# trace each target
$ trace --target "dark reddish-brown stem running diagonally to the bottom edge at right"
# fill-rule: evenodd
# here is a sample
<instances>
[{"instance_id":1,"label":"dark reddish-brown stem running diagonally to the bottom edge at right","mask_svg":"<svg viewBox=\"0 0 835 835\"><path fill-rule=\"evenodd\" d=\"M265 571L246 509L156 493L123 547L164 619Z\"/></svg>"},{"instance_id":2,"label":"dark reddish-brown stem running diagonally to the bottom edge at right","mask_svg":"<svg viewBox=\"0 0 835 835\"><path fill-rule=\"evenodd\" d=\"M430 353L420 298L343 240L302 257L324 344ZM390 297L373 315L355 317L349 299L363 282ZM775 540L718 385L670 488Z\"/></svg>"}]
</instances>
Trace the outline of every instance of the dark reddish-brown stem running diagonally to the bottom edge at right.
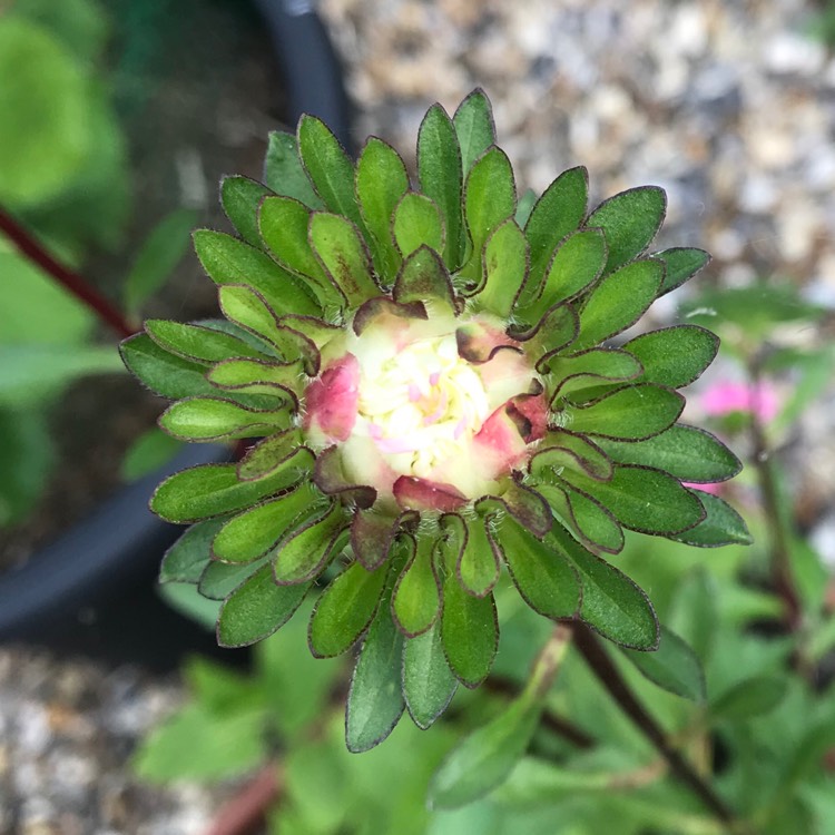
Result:
<instances>
[{"instance_id":1,"label":"dark reddish-brown stem running diagonally to the bottom edge at right","mask_svg":"<svg viewBox=\"0 0 835 835\"><path fill-rule=\"evenodd\" d=\"M725 802L714 792L696 769L669 744L667 735L655 718L638 701L620 671L612 662L600 641L583 623L573 625L574 645L591 671L618 703L620 709L635 723L669 765L670 773L688 786L694 794L728 828L738 832L739 822Z\"/></svg>"}]
</instances>

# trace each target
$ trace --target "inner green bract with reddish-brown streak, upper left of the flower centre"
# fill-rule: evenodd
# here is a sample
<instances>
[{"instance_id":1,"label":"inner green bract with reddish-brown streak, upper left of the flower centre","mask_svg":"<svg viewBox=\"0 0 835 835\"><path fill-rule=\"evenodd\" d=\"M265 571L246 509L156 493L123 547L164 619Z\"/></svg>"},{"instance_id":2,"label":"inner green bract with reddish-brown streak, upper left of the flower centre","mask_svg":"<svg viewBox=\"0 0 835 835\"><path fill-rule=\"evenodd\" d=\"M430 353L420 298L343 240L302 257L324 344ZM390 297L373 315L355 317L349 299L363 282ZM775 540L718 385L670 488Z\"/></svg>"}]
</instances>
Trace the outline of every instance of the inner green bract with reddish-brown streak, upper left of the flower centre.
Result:
<instances>
[{"instance_id":1,"label":"inner green bract with reddish-brown streak, upper left of the flower centre","mask_svg":"<svg viewBox=\"0 0 835 835\"><path fill-rule=\"evenodd\" d=\"M352 307L380 295L365 242L350 220L314 212L310 239L314 255Z\"/></svg>"}]
</instances>

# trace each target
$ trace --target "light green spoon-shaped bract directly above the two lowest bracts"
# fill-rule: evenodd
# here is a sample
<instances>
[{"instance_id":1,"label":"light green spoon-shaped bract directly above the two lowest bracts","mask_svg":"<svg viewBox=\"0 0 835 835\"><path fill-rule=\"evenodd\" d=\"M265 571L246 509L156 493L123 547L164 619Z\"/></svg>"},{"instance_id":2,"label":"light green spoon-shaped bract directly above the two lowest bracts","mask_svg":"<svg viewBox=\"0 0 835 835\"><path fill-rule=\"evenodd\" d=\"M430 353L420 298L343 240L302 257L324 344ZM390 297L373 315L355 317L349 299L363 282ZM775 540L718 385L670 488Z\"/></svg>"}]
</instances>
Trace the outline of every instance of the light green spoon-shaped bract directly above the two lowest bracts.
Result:
<instances>
[{"instance_id":1,"label":"light green spoon-shaped bract directly above the two lowest bracts","mask_svg":"<svg viewBox=\"0 0 835 835\"><path fill-rule=\"evenodd\" d=\"M441 587L433 563L435 540L419 537L412 556L397 578L392 592L392 617L406 638L425 632L438 619L441 609Z\"/></svg>"}]
</instances>

